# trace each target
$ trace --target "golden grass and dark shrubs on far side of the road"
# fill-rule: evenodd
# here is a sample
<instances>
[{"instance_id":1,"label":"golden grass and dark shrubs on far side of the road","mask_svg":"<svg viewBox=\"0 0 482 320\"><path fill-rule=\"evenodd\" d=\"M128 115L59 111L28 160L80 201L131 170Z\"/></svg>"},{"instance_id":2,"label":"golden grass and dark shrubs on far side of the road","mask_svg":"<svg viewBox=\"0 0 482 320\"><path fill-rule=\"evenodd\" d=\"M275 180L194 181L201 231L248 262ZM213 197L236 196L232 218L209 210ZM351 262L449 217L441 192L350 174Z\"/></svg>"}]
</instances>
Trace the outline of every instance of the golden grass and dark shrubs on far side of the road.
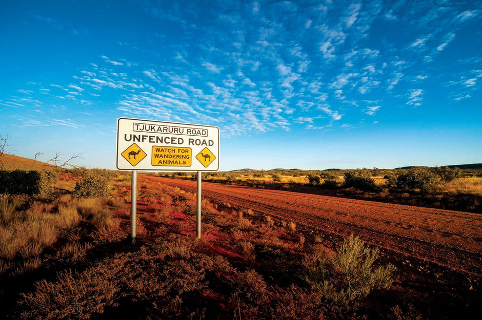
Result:
<instances>
[{"instance_id":1,"label":"golden grass and dark shrubs on far side of the road","mask_svg":"<svg viewBox=\"0 0 482 320\"><path fill-rule=\"evenodd\" d=\"M194 178L191 173L163 176ZM356 170L239 170L207 173L206 181L304 192L364 200L482 212L482 169L413 167L410 169Z\"/></svg>"}]
</instances>

